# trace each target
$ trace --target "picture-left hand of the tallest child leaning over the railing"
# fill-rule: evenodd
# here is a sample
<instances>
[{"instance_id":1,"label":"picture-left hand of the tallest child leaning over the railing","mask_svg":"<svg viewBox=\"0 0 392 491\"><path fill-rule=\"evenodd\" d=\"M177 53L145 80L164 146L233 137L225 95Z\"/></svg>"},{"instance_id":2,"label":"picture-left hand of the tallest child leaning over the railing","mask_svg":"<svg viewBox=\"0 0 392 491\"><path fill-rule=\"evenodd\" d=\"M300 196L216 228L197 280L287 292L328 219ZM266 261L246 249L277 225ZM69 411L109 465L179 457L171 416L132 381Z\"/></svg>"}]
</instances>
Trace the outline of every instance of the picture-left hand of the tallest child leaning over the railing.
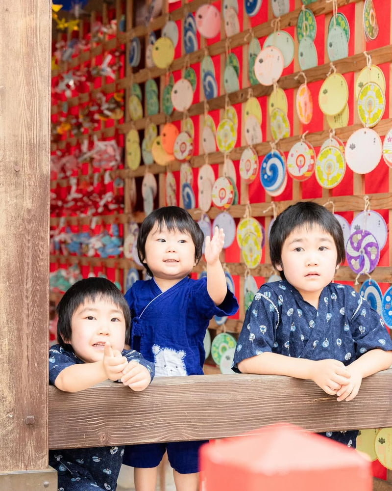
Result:
<instances>
[{"instance_id":1,"label":"picture-left hand of the tallest child leaning over the railing","mask_svg":"<svg viewBox=\"0 0 392 491\"><path fill-rule=\"evenodd\" d=\"M311 380L327 394L335 395L350 383L350 373L341 361L318 360L313 363ZM338 399L339 400L339 399Z\"/></svg>"}]
</instances>

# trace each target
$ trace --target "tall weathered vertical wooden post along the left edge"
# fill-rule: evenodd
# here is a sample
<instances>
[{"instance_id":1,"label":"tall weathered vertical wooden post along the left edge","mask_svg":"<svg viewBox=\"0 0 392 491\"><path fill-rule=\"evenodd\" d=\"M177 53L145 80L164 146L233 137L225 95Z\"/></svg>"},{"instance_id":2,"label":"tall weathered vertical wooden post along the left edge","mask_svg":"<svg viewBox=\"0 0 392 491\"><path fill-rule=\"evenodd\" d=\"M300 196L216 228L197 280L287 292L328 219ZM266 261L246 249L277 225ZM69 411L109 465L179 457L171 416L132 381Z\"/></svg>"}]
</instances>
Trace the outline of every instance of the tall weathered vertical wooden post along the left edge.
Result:
<instances>
[{"instance_id":1,"label":"tall weathered vertical wooden post along the left edge","mask_svg":"<svg viewBox=\"0 0 392 491\"><path fill-rule=\"evenodd\" d=\"M48 469L51 2L0 6L0 489Z\"/></svg>"}]
</instances>

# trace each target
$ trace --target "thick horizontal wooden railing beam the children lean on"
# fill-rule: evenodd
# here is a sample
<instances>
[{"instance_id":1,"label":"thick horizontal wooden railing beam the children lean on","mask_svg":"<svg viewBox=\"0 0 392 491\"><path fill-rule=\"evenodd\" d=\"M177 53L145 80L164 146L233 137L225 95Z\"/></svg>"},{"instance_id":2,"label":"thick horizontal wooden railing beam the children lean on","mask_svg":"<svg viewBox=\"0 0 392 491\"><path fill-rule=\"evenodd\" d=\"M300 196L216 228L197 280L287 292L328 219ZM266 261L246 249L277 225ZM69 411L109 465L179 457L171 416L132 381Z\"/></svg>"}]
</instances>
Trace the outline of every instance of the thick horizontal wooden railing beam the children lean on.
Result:
<instances>
[{"instance_id":1,"label":"thick horizontal wooden railing beam the children lean on","mask_svg":"<svg viewBox=\"0 0 392 491\"><path fill-rule=\"evenodd\" d=\"M392 426L392 369L338 403L314 382L282 376L161 377L143 392L105 382L79 393L49 387L49 448L243 435L286 421L312 431Z\"/></svg>"}]
</instances>

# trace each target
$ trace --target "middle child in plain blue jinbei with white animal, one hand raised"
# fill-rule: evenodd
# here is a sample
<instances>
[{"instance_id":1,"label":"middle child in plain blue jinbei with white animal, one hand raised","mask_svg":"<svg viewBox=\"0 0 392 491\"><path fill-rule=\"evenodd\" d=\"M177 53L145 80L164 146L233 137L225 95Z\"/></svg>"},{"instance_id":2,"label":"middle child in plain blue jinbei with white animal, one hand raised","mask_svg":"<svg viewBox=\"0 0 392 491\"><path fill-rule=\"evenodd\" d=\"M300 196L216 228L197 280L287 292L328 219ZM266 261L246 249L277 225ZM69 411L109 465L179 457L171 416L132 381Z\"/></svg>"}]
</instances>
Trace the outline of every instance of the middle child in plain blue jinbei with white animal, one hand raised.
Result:
<instances>
[{"instance_id":1,"label":"middle child in plain blue jinbei with white animal, one hand raised","mask_svg":"<svg viewBox=\"0 0 392 491\"><path fill-rule=\"evenodd\" d=\"M137 239L141 262L152 279L136 281L126 292L132 315L131 348L155 363L156 376L201 375L203 340L214 315L233 315L237 300L227 289L219 259L223 230L206 237L207 278L189 277L202 255L204 235L184 209L167 206L143 221ZM182 441L125 447L123 463L134 467L136 491L154 491L165 451L177 491L196 491L198 449Z\"/></svg>"}]
</instances>

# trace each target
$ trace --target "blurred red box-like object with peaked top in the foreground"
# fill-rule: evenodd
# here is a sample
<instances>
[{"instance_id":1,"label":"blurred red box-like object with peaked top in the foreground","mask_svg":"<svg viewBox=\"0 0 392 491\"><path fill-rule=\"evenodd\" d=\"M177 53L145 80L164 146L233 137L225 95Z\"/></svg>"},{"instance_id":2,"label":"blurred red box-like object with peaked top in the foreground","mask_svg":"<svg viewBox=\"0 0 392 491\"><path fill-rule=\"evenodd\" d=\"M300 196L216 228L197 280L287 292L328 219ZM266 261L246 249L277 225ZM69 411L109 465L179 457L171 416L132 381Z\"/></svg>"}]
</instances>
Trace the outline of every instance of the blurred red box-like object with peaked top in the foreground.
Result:
<instances>
[{"instance_id":1,"label":"blurred red box-like object with peaked top in the foreground","mask_svg":"<svg viewBox=\"0 0 392 491\"><path fill-rule=\"evenodd\" d=\"M200 448L203 491L371 491L371 463L354 449L289 424Z\"/></svg>"}]
</instances>

